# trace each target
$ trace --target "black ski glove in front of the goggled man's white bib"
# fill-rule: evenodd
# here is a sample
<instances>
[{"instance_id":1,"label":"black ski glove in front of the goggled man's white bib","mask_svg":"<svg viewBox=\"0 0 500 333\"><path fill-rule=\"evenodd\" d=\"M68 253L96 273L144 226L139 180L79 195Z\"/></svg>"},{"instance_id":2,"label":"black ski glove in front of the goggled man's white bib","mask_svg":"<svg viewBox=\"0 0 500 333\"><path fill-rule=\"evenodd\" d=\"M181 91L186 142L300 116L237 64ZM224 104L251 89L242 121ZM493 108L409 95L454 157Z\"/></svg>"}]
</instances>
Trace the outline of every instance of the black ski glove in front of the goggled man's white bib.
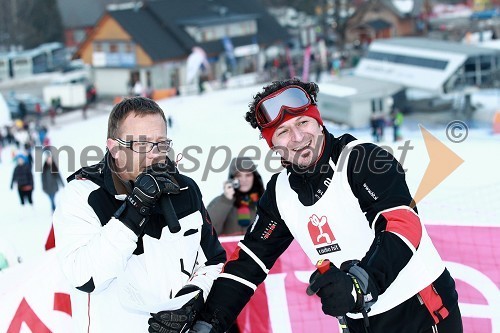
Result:
<instances>
[{"instance_id":1,"label":"black ski glove in front of the goggled man's white bib","mask_svg":"<svg viewBox=\"0 0 500 333\"><path fill-rule=\"evenodd\" d=\"M369 289L369 276L357 266L357 261L342 264L342 269L330 264L323 274L314 271L309 279L309 289L321 298L323 312L330 316L344 316L346 313L368 311L377 300L378 293Z\"/></svg>"}]
</instances>

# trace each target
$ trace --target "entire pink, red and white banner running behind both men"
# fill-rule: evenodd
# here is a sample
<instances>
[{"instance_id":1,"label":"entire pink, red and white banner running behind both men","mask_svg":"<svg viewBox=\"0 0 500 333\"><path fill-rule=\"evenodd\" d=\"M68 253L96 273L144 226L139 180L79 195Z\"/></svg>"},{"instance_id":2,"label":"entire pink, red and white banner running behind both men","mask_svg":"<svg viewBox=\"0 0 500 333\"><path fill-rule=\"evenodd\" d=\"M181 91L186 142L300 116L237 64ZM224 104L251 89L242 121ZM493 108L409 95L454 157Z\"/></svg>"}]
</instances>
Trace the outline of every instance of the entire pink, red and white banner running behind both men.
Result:
<instances>
[{"instance_id":1,"label":"entire pink, red and white banner running behind both men","mask_svg":"<svg viewBox=\"0 0 500 333\"><path fill-rule=\"evenodd\" d=\"M500 333L500 228L427 226L457 282L466 333ZM237 239L221 237L228 252ZM339 332L305 293L313 267L294 242L238 318L244 333ZM0 332L71 332L69 286L54 251L0 274Z\"/></svg>"}]
</instances>

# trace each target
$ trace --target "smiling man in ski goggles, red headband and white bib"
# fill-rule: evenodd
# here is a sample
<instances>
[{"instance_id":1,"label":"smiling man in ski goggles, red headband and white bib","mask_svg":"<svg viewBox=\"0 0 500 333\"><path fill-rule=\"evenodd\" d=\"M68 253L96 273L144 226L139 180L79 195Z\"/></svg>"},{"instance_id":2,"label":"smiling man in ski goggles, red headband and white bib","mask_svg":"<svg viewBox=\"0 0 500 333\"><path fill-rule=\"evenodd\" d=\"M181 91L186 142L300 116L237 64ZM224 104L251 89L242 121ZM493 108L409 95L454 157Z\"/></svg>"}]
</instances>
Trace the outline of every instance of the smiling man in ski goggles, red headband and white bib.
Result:
<instances>
[{"instance_id":1,"label":"smiling man in ski goggles, red headband and white bib","mask_svg":"<svg viewBox=\"0 0 500 333\"><path fill-rule=\"evenodd\" d=\"M285 168L269 181L191 332L224 332L294 239L317 267L304 291L343 333L462 332L455 282L402 166L375 144L330 134L318 91L313 82L277 81L250 104L245 119Z\"/></svg>"}]
</instances>

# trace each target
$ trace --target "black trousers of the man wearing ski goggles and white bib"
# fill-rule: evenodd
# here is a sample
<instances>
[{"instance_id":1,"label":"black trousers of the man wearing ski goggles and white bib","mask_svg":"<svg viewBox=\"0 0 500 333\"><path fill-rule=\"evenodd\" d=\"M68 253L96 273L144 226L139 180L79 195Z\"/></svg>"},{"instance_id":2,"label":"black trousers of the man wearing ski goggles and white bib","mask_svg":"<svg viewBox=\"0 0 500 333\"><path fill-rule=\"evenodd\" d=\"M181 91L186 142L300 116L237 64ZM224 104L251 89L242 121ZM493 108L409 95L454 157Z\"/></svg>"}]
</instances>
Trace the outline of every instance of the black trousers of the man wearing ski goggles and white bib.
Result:
<instances>
[{"instance_id":1,"label":"black trousers of the man wearing ski goggles and white bib","mask_svg":"<svg viewBox=\"0 0 500 333\"><path fill-rule=\"evenodd\" d=\"M458 304L449 312L448 317L437 324L436 330L429 311L414 296L389 311L369 317L368 331L363 319L346 319L350 333L463 333Z\"/></svg>"}]
</instances>

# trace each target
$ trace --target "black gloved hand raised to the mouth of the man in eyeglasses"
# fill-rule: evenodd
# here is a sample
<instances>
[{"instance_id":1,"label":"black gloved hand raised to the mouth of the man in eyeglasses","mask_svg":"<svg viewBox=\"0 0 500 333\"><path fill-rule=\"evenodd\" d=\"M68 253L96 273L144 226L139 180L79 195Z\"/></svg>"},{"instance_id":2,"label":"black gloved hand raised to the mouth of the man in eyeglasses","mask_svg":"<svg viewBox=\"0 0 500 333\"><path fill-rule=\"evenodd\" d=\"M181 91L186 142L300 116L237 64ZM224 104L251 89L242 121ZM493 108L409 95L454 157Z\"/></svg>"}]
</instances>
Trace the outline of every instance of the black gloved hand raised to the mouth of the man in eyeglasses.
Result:
<instances>
[{"instance_id":1,"label":"black gloved hand raised to the mouth of the man in eyeglasses","mask_svg":"<svg viewBox=\"0 0 500 333\"><path fill-rule=\"evenodd\" d=\"M168 174L155 174L148 168L137 176L132 193L127 195L114 217L139 236L161 195L176 193L178 189Z\"/></svg>"}]
</instances>

